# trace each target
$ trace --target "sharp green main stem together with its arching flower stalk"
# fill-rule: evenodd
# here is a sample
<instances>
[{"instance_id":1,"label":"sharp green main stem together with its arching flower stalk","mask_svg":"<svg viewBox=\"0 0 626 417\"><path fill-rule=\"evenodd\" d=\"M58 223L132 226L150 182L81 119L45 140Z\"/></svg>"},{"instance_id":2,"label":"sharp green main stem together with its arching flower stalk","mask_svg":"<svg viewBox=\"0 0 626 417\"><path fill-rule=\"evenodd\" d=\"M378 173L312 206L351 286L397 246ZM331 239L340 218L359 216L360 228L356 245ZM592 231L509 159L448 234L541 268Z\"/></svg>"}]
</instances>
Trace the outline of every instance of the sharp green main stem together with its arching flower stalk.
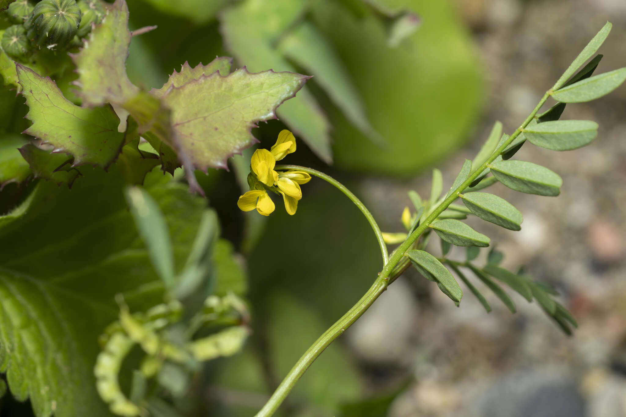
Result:
<instances>
[{"instance_id":1,"label":"sharp green main stem together with its arching flower stalk","mask_svg":"<svg viewBox=\"0 0 626 417\"><path fill-rule=\"evenodd\" d=\"M331 326L331 328L325 331L324 334L322 334L322 336L320 336L320 338L317 339L315 343L310 346L309 349L307 349L302 357L298 359L297 363L295 363L294 367L291 368L287 376L285 376L285 379L283 379L276 391L274 391L274 394L272 394L269 401L265 403L263 408L260 409L259 413L257 413L255 417L269 417L274 414L274 412L279 408L280 404L289 394L289 391L294 388L295 383L297 383L298 379L300 379L302 374L304 374L304 372L309 368L313 361L317 359L317 357L324 351L324 349L329 346L329 344L332 343L332 341L334 341L334 339L344 333L344 331L349 328L352 323L354 323L359 317L361 317L363 313L365 313L369 306L371 306L372 303L374 303L374 301L376 301L376 299L387 289L387 285L389 285L390 281L393 281L393 279L397 278L399 276L399 273L401 273L401 271L404 271L404 269L408 267L409 262L406 259L403 259L406 251L408 251L413 243L419 238L419 236L421 236L421 234L424 233L426 229L428 229L428 226L433 223L434 219L436 219L439 214L441 214L446 208L448 208L448 206L456 198L458 198L459 194L462 193L464 189L468 188L469 184L471 184L476 178L478 178L478 176L487 167L487 164L493 162L493 160L496 159L498 155L500 155L506 149L506 147L513 141L513 139L515 139L522 132L526 125L530 123L530 121L535 117L535 114L539 111L541 106L543 106L543 103L546 102L550 91L551 90L548 90L544 94L539 104L537 104L535 109L533 109L533 111L530 113L528 118L526 118L524 123L522 123L521 126L517 128L516 131L513 132L513 134L511 134L510 138L508 138L505 143L501 144L500 147L498 147L498 149L496 149L493 154L491 154L490 158L485 161L485 163L476 168L476 170L469 175L469 178L466 179L463 184L458 186L458 188L456 188L453 193L451 193L446 199L444 199L444 201L441 202L439 206L437 206L437 208L434 209L433 212L429 214L429 216L421 224L419 224L418 228L416 228L415 231L413 231L413 233L408 236L406 241L404 241L404 243L402 243L398 247L398 249L396 249L394 253L391 254L391 258L389 258L389 261L386 262L384 268L382 268L381 273L378 274L378 277L376 278L374 284L371 286L371 288L367 290L367 293L365 293L365 295L359 300L358 303L354 304L354 306L352 306L352 308L346 314L344 314L341 319L337 320L336 323ZM379 243L381 244L382 251L382 247L384 247L384 241L382 240L382 235L380 233L380 229L376 224L376 221L374 221L371 213L369 213L365 206L363 206L361 201L359 201L359 199L357 199L356 196L354 196L354 194L352 194L346 187L342 186L342 184L338 183L326 174L316 171L314 169L304 168L297 165L280 165L276 166L274 169L298 169L299 171L304 171L305 173L309 173L311 175L315 175L319 178L325 179L329 183L341 189L341 191L346 194L348 198L354 201L359 209L361 209L363 214L366 215L369 223L372 224L372 228L374 228L374 232L376 232L376 236L377 238L379 238ZM386 255L386 247L383 253ZM383 258L386 259L387 256L383 256ZM399 263L401 264L398 265ZM396 268L396 266L398 266L398 268Z\"/></svg>"}]
</instances>

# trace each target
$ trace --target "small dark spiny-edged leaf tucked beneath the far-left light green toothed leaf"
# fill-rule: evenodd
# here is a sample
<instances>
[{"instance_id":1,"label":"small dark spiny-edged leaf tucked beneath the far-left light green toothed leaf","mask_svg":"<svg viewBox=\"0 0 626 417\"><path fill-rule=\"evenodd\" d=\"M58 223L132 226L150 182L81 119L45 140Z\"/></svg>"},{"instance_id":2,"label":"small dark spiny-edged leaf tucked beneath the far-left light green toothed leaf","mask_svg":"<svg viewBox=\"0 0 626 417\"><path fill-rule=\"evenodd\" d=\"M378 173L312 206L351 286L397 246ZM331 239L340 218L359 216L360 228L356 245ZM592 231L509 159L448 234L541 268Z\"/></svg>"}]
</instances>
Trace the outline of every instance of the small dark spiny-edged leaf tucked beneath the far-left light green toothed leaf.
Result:
<instances>
[{"instance_id":1,"label":"small dark spiny-edged leaf tucked beneath the far-left light green toothed leaf","mask_svg":"<svg viewBox=\"0 0 626 417\"><path fill-rule=\"evenodd\" d=\"M31 167L34 178L53 181L57 185L68 184L71 188L76 178L81 175L78 169L72 168L73 158L67 154L50 153L32 143L19 148L19 153Z\"/></svg>"}]
</instances>

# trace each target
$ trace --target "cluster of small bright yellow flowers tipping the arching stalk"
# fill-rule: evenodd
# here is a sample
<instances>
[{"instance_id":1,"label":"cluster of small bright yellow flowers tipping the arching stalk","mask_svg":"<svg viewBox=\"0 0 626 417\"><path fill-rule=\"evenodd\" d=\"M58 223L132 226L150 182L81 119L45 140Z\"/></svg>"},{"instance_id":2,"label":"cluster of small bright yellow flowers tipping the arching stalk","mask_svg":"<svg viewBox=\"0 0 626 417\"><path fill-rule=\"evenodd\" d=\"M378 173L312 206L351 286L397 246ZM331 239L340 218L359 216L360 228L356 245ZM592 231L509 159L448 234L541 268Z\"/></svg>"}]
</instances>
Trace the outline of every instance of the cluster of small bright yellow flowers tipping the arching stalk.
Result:
<instances>
[{"instance_id":1,"label":"cluster of small bright yellow flowers tipping the arching stalk","mask_svg":"<svg viewBox=\"0 0 626 417\"><path fill-rule=\"evenodd\" d=\"M311 179L304 171L274 171L276 161L285 158L287 154L295 152L294 134L288 130L279 133L274 146L267 149L257 149L250 159L250 174L248 185L250 191L239 197L237 206L243 211L257 209L260 214L269 216L274 211L274 201L267 191L281 194L285 209L289 214L295 214L298 200L302 198L300 184L308 183Z\"/></svg>"}]
</instances>

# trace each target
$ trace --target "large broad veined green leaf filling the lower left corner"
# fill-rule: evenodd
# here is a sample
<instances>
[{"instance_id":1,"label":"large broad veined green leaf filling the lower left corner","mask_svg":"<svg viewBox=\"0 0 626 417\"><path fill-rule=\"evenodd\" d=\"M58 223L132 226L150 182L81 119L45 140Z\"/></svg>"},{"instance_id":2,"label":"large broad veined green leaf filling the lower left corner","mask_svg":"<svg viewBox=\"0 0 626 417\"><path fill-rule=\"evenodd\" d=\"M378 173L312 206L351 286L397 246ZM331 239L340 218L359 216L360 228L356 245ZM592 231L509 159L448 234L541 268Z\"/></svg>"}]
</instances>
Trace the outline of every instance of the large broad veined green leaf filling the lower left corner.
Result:
<instances>
[{"instance_id":1,"label":"large broad veined green leaf filling the lower left corner","mask_svg":"<svg viewBox=\"0 0 626 417\"><path fill-rule=\"evenodd\" d=\"M115 294L133 310L162 302L116 166L83 174L71 191L41 181L34 199L45 204L29 205L13 223L0 217L0 349L8 357L1 369L11 393L29 398L38 417L110 417L93 366L96 339L119 311ZM164 184L160 173L150 184L180 267L205 201L182 184Z\"/></svg>"}]
</instances>

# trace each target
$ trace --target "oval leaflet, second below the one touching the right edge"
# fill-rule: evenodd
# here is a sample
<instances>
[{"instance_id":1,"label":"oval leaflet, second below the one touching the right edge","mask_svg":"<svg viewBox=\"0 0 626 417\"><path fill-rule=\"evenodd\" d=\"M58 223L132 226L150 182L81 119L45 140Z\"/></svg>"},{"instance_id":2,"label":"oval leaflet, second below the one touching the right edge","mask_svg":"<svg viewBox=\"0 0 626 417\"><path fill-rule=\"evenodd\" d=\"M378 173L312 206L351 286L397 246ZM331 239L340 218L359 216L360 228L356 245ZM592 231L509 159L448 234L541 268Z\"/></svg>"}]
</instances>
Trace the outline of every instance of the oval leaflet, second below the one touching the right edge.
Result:
<instances>
[{"instance_id":1,"label":"oval leaflet, second below the one touching the right edge","mask_svg":"<svg viewBox=\"0 0 626 417\"><path fill-rule=\"evenodd\" d=\"M501 161L490 168L498 181L520 193L558 196L563 184L557 173L526 161Z\"/></svg>"}]
</instances>

